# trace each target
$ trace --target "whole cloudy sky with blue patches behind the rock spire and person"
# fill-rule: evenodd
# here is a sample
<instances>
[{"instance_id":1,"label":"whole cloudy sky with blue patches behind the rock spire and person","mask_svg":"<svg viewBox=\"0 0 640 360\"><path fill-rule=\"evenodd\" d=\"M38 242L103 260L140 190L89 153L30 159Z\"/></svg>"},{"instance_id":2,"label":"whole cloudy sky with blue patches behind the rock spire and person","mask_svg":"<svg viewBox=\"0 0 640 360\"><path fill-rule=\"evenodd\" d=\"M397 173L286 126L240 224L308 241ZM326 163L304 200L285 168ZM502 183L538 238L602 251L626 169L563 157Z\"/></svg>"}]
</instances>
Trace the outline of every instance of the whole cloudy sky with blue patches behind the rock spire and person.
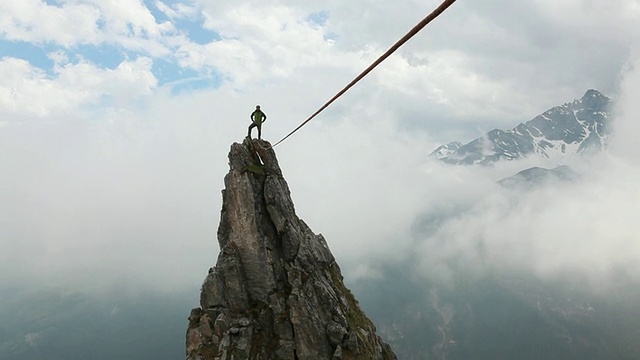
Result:
<instances>
[{"instance_id":1,"label":"whole cloudy sky with blue patches behind the rock spire and person","mask_svg":"<svg viewBox=\"0 0 640 360\"><path fill-rule=\"evenodd\" d=\"M0 282L197 291L255 105L279 140L438 5L0 0ZM276 148L298 215L348 279L415 253L444 281L451 259L639 279L639 20L638 0L457 1ZM588 89L618 117L609 151L567 159L578 185L514 200L496 180L557 164L427 157Z\"/></svg>"}]
</instances>

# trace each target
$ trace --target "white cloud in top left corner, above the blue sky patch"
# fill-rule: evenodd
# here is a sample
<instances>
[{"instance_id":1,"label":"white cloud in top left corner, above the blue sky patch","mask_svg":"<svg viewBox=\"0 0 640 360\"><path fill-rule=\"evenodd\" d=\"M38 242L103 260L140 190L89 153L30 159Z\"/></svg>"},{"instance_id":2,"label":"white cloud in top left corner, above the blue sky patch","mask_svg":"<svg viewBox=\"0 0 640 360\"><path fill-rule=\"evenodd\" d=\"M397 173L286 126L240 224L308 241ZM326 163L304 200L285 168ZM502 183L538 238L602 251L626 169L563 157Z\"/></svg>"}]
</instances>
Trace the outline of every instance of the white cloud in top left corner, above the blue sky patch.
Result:
<instances>
[{"instance_id":1,"label":"white cloud in top left corner, above the blue sky patch","mask_svg":"<svg viewBox=\"0 0 640 360\"><path fill-rule=\"evenodd\" d=\"M39 0L0 3L0 28L7 40L53 43L65 48L110 44L151 56L167 56L175 27L158 24L140 0L74 0L60 6Z\"/></svg>"}]
</instances>

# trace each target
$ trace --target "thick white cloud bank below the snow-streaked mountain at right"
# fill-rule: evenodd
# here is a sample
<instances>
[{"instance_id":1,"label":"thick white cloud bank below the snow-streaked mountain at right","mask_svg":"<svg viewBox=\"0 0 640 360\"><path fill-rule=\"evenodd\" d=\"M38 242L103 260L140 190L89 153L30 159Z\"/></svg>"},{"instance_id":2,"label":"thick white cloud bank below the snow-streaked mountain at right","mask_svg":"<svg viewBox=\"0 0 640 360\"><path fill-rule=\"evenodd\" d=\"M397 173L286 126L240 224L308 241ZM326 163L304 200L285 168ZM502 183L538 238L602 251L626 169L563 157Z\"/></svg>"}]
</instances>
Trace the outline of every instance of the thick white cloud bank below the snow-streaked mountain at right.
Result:
<instances>
[{"instance_id":1,"label":"thick white cloud bank below the snow-streaked mountain at right","mask_svg":"<svg viewBox=\"0 0 640 360\"><path fill-rule=\"evenodd\" d=\"M578 183L554 183L518 194L483 193L468 210L420 239L425 276L460 269L531 271L547 279L577 278L594 289L640 281L640 172L615 159L583 168ZM441 278L442 279L442 278Z\"/></svg>"}]
</instances>

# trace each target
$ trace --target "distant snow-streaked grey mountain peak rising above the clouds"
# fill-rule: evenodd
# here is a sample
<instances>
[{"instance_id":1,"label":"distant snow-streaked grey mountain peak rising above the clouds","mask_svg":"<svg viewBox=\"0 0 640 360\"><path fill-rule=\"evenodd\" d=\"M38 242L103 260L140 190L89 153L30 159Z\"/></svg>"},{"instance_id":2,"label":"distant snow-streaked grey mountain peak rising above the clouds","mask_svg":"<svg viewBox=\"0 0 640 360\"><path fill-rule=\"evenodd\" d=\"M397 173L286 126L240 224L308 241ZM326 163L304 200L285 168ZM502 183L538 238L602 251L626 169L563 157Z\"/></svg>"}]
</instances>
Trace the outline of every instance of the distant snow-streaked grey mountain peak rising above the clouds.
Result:
<instances>
[{"instance_id":1,"label":"distant snow-streaked grey mountain peak rising above the clouds","mask_svg":"<svg viewBox=\"0 0 640 360\"><path fill-rule=\"evenodd\" d=\"M537 154L566 158L601 151L610 133L611 99L588 90L579 100L556 106L510 130L494 129L468 144L451 142L434 156L451 164L491 164Z\"/></svg>"}]
</instances>

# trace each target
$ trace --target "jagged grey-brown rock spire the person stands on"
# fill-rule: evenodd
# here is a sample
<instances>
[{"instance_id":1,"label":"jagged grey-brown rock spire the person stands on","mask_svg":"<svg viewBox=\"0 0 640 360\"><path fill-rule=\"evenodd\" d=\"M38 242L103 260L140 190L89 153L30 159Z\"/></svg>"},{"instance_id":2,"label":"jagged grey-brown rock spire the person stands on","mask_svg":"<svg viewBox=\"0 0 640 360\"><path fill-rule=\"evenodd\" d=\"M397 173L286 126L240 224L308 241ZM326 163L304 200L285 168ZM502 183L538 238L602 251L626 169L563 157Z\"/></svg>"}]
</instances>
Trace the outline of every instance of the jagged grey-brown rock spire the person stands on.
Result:
<instances>
[{"instance_id":1,"label":"jagged grey-brown rock spire the person stands on","mask_svg":"<svg viewBox=\"0 0 640 360\"><path fill-rule=\"evenodd\" d=\"M220 254L189 316L187 359L395 359L325 239L296 216L267 148L231 146Z\"/></svg>"}]
</instances>

